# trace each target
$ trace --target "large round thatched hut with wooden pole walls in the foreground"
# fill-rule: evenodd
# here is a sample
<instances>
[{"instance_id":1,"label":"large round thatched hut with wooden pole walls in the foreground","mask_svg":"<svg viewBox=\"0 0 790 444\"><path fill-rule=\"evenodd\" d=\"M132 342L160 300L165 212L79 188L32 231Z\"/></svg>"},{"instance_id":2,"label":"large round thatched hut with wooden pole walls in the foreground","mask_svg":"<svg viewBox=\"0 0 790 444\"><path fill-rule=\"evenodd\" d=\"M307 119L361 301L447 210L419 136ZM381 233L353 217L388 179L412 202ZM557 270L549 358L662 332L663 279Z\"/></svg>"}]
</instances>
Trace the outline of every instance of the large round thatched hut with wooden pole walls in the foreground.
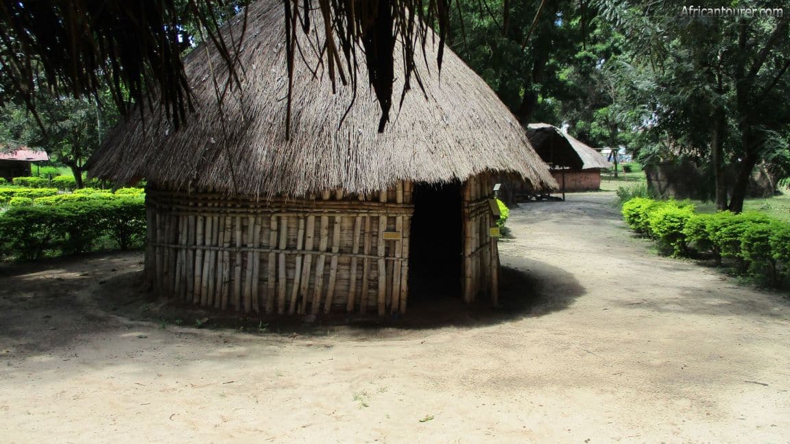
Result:
<instances>
[{"instance_id":1,"label":"large round thatched hut with wooden pole walls in the foreground","mask_svg":"<svg viewBox=\"0 0 790 444\"><path fill-rule=\"evenodd\" d=\"M423 283L414 275L429 269L446 275L437 288L459 286L468 302L495 297L491 173L556 183L491 88L450 51L440 76L428 43L427 97L412 89L379 134L373 92L333 94L314 42L297 57L287 138L282 4L249 8L238 83L211 47L196 48L186 58L196 112L185 127L146 111L90 163L102 179L148 181L156 288L237 310L384 314L404 311L409 285ZM233 19L224 33L238 40L242 26ZM367 76L364 66L356 75Z\"/></svg>"}]
</instances>

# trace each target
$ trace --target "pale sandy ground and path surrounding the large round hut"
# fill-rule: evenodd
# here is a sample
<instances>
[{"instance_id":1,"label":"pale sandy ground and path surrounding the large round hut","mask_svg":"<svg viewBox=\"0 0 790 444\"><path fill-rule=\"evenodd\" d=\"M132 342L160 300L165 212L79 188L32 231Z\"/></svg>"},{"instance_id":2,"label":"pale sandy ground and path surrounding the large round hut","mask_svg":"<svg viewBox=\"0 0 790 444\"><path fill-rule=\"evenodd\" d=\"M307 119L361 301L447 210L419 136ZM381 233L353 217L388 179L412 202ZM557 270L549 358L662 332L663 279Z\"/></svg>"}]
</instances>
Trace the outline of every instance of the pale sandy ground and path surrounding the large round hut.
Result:
<instances>
[{"instance_id":1,"label":"pale sandy ground and path surrounding the large round hut","mask_svg":"<svg viewBox=\"0 0 790 444\"><path fill-rule=\"evenodd\" d=\"M611 200L513 209L505 308L434 324L195 329L133 320L140 254L6 266L0 441L788 442L788 299Z\"/></svg>"}]
</instances>

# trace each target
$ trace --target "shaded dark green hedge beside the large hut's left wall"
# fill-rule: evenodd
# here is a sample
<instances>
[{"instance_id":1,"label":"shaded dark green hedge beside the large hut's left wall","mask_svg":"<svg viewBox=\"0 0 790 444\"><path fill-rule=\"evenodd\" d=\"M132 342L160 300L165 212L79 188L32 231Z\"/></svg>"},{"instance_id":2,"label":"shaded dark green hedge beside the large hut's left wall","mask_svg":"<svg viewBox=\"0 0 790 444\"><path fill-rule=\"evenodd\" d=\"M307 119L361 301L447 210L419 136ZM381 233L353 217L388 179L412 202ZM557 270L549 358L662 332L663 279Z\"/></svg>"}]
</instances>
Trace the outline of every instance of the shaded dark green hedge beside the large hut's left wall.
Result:
<instances>
[{"instance_id":1,"label":"shaded dark green hedge beside the large hut's left wall","mask_svg":"<svg viewBox=\"0 0 790 444\"><path fill-rule=\"evenodd\" d=\"M145 200L121 197L21 206L0 215L0 252L17 259L81 253L103 238L122 250L141 245Z\"/></svg>"}]
</instances>

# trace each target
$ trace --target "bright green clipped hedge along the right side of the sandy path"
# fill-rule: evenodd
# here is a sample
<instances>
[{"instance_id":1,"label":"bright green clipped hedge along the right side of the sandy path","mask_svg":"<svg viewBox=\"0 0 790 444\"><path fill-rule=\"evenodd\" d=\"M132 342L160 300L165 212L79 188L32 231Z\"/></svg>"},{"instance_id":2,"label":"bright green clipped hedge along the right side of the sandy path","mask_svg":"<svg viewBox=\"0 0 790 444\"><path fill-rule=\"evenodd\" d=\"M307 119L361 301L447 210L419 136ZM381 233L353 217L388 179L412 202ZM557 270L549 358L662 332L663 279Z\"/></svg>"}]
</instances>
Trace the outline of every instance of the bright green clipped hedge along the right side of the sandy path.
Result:
<instances>
[{"instance_id":1,"label":"bright green clipped hedge along the right side of the sandy path","mask_svg":"<svg viewBox=\"0 0 790 444\"><path fill-rule=\"evenodd\" d=\"M626 224L674 256L711 254L739 273L779 286L790 276L790 224L762 213L694 213L676 201L633 198L623 204Z\"/></svg>"}]
</instances>

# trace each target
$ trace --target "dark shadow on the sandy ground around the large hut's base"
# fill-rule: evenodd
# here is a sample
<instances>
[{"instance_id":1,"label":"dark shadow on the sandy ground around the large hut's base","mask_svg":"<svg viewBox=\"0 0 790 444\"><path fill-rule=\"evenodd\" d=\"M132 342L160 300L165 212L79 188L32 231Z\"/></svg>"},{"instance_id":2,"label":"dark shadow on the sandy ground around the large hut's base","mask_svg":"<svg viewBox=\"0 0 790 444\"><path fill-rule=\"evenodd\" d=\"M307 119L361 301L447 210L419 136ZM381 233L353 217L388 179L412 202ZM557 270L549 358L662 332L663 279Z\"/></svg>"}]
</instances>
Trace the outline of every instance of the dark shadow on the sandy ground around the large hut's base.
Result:
<instances>
[{"instance_id":1,"label":"dark shadow on the sandy ground around the large hut's base","mask_svg":"<svg viewBox=\"0 0 790 444\"><path fill-rule=\"evenodd\" d=\"M406 315L320 314L307 322L305 316L236 314L156 299L145 289L139 259L139 254L94 254L4 267L0 343L6 351L0 352L45 352L68 346L80 335L134 321L307 336L333 329L352 337L381 337L386 332L397 335L399 330L469 328L541 316L568 307L585 293L565 270L508 257L511 266L503 266L500 275L499 307L492 307L482 295L471 306L460 298L413 295Z\"/></svg>"}]
</instances>

